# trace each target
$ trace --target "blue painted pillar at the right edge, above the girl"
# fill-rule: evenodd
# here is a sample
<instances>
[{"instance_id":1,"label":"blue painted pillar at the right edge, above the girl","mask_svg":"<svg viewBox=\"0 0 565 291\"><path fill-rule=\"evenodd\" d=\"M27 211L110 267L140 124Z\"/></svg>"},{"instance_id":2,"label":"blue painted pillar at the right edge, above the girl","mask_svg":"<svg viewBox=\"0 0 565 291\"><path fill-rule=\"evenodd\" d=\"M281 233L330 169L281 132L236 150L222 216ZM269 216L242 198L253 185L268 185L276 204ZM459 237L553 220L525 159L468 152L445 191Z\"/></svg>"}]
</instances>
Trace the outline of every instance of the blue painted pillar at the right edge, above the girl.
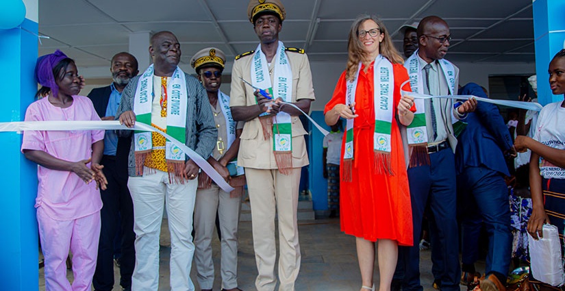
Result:
<instances>
[{"instance_id":1,"label":"blue painted pillar at the right edge, above the girl","mask_svg":"<svg viewBox=\"0 0 565 291\"><path fill-rule=\"evenodd\" d=\"M542 105L563 100L551 94L547 69L553 55L565 46L565 1L533 0L533 38L536 40L538 100Z\"/></svg>"}]
</instances>

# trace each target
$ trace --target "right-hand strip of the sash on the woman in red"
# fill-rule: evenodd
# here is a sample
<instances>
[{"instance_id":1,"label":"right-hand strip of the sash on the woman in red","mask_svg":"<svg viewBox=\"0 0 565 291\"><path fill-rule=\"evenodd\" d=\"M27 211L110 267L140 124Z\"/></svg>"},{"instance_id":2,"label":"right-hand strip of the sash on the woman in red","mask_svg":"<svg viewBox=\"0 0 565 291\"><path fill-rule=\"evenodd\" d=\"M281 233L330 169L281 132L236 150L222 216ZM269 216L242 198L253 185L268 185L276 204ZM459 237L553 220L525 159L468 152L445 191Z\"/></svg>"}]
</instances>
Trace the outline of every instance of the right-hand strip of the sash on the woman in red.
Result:
<instances>
[{"instance_id":1,"label":"right-hand strip of the sash on the woman in red","mask_svg":"<svg viewBox=\"0 0 565 291\"><path fill-rule=\"evenodd\" d=\"M379 55L375 59L373 74L375 84L375 134L373 134L373 149L390 153L390 131L394 116L394 73L392 63Z\"/></svg>"}]
</instances>

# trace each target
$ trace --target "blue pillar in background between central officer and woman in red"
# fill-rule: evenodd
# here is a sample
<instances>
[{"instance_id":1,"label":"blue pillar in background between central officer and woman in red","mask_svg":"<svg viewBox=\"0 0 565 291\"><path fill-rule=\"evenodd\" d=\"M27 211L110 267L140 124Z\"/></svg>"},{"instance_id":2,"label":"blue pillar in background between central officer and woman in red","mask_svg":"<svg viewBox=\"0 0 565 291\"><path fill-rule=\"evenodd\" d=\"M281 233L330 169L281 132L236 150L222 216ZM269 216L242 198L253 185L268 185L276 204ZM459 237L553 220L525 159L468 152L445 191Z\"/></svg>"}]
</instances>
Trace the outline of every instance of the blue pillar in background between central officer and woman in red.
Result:
<instances>
[{"instance_id":1,"label":"blue pillar in background between central officer and woman in red","mask_svg":"<svg viewBox=\"0 0 565 291\"><path fill-rule=\"evenodd\" d=\"M319 125L322 125L329 131L329 127L325 125L324 112L313 111L310 117ZM308 185L312 193L312 203L314 204L314 212L321 214L327 210L327 179L323 176L323 161L322 161L322 142L324 135L321 134L311 123L310 126L310 142L308 142L308 155L310 158L310 165L308 166Z\"/></svg>"}]
</instances>

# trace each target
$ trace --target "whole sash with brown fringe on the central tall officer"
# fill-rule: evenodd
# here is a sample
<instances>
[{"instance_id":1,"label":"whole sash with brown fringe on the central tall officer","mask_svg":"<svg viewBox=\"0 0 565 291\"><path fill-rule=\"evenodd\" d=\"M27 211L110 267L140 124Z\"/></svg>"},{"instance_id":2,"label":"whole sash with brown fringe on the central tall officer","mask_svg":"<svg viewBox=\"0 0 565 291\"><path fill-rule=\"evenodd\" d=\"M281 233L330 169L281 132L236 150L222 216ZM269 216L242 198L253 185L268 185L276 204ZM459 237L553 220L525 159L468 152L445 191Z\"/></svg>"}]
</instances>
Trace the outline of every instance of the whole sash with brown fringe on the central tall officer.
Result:
<instances>
[{"instance_id":1,"label":"whole sash with brown fringe on the central tall officer","mask_svg":"<svg viewBox=\"0 0 565 291\"><path fill-rule=\"evenodd\" d=\"M274 88L268 73L268 64L265 54L261 51L261 44L255 49L253 64L251 65L251 82L258 88L266 88L273 95L273 99L282 99L292 102L292 69L286 55L283 42L279 41L275 55ZM264 138L273 136L273 151L279 172L290 174L292 170L292 121L290 114L279 112L274 117L271 115L260 116ZM271 126L272 123L272 126Z\"/></svg>"}]
</instances>

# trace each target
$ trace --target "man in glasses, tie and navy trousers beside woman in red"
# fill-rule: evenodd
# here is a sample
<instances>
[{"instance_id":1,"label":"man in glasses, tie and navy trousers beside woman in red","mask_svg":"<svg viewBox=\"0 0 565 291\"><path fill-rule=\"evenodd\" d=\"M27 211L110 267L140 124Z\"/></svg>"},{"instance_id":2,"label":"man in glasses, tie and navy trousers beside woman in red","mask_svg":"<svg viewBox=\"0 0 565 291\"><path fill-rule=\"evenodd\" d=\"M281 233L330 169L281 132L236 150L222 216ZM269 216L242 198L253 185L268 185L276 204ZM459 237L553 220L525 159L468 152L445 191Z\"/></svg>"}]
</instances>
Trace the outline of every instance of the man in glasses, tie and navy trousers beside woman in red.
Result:
<instances>
[{"instance_id":1,"label":"man in glasses, tie and navy trousers beside woman in red","mask_svg":"<svg viewBox=\"0 0 565 291\"><path fill-rule=\"evenodd\" d=\"M404 64L410 75L413 92L430 95L457 94L459 69L444 60L451 34L447 23L438 16L427 16L418 29L419 48ZM419 103L418 103L419 102ZM416 99L416 114L425 116L419 127L408 127L411 157L408 168L414 242L418 242L425 206L430 207L431 261L434 282L442 291L460 290L459 240L456 219L455 147L457 138L454 121L466 117L477 106L475 99L453 104L451 99ZM423 131L423 132L422 132ZM416 139L416 132L424 140ZM412 134L411 134L412 133ZM425 144L425 145L422 145ZM420 249L399 247L399 262L405 271L403 291L421 291Z\"/></svg>"}]
</instances>

